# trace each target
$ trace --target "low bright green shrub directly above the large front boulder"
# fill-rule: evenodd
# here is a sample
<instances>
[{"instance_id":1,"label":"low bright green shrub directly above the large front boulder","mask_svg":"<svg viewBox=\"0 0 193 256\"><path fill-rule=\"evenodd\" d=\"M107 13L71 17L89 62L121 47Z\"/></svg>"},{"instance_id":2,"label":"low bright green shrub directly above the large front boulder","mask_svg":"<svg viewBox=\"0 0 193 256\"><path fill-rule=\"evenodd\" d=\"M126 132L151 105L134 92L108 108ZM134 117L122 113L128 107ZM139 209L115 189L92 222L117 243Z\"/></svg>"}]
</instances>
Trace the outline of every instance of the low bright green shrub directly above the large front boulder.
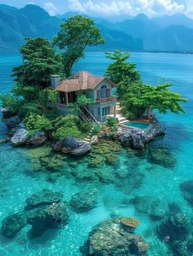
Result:
<instances>
[{"instance_id":1,"label":"low bright green shrub directly above the large front boulder","mask_svg":"<svg viewBox=\"0 0 193 256\"><path fill-rule=\"evenodd\" d=\"M53 132L52 135L54 139L65 139L68 136L79 138L81 135L81 132L76 126L71 126L71 127L61 126L56 130L56 132Z\"/></svg>"}]
</instances>

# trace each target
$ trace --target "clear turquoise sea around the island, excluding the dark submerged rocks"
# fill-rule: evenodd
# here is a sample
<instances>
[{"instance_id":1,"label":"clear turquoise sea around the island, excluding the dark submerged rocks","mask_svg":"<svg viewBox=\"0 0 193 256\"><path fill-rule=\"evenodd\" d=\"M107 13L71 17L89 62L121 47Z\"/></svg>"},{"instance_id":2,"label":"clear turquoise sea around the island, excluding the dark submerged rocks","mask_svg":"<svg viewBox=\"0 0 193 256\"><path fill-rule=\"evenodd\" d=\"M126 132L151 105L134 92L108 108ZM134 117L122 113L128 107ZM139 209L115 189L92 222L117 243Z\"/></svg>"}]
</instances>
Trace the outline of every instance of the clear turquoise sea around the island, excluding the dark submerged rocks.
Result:
<instances>
[{"instance_id":1,"label":"clear turquoise sea around the island, excluding the dark submerged rocks","mask_svg":"<svg viewBox=\"0 0 193 256\"><path fill-rule=\"evenodd\" d=\"M174 255L168 249L167 242L159 240L155 235L159 222L153 222L135 204L123 202L128 198L146 196L158 202L157 207L166 216L168 203L177 203L182 213L190 218L192 216L192 208L183 199L179 184L191 180L193 171L193 56L132 53L131 58L138 63L137 68L147 84L156 84L160 78L173 82L173 90L189 99L184 106L186 115L158 114L159 120L167 129L166 135L155 139L144 152L122 149L118 154L119 163L116 167L104 163L101 167L92 169L88 167L88 157L79 159L75 167L70 162L77 162L76 159L66 158L57 171L51 171L47 167L37 167L38 158L44 149L12 149L10 144L0 145L0 221L23 208L25 199L43 188L64 191L67 201L72 194L87 188L96 187L100 192L97 208L88 213L70 213L70 223L63 230L47 231L34 240L29 238L29 227L20 231L12 240L0 236L0 256L79 256L79 246L87 239L92 226L114 214L134 216L140 220L141 226L137 228L137 233L144 235L150 242L148 255ZM0 56L1 92L11 89L11 68L20 61L17 55ZM74 71L87 70L102 75L109 62L104 53L88 53L75 66ZM0 138L6 136L6 131L1 122ZM167 162L153 162L149 151L154 147L167 149L176 159L175 165L171 167ZM81 178L84 173L91 173L93 170L95 174L105 172L110 176L109 181L101 182L95 178L88 181Z\"/></svg>"}]
</instances>

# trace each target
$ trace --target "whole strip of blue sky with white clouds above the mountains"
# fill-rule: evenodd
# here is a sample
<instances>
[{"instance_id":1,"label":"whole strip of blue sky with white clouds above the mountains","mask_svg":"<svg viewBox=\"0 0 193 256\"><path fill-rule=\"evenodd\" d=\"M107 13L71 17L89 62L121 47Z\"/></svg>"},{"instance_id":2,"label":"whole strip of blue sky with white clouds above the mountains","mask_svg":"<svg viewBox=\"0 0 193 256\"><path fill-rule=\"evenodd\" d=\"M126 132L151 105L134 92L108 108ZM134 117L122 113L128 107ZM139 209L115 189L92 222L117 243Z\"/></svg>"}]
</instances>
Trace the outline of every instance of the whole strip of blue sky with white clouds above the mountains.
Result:
<instances>
[{"instance_id":1,"label":"whole strip of blue sky with white clouds above the mountains","mask_svg":"<svg viewBox=\"0 0 193 256\"><path fill-rule=\"evenodd\" d=\"M79 11L92 16L126 16L144 12L148 16L185 13L193 18L193 0L0 0L15 7L27 3L44 7L51 15Z\"/></svg>"}]
</instances>

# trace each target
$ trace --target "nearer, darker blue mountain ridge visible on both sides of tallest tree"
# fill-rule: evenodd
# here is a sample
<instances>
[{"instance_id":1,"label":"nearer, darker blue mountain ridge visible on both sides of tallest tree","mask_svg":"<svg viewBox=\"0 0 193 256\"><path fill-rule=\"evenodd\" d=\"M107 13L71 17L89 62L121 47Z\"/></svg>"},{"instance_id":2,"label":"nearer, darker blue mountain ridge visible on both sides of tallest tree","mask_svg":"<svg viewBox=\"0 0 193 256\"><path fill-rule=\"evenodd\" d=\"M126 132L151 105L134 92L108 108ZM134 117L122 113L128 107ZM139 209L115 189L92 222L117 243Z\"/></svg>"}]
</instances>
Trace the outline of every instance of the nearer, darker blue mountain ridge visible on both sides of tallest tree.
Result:
<instances>
[{"instance_id":1,"label":"nearer, darker blue mountain ridge visible on both sides of tallest tree","mask_svg":"<svg viewBox=\"0 0 193 256\"><path fill-rule=\"evenodd\" d=\"M67 17L72 16L69 14ZM35 5L27 5L22 9L0 5L0 52L16 52L24 42L25 37L44 36L53 38L59 30L61 22L66 16L49 16L47 11ZM141 40L133 39L131 35L122 31L116 31L98 24L105 38L105 45L92 48L94 50L113 50L121 48L124 50L142 51Z\"/></svg>"}]
</instances>

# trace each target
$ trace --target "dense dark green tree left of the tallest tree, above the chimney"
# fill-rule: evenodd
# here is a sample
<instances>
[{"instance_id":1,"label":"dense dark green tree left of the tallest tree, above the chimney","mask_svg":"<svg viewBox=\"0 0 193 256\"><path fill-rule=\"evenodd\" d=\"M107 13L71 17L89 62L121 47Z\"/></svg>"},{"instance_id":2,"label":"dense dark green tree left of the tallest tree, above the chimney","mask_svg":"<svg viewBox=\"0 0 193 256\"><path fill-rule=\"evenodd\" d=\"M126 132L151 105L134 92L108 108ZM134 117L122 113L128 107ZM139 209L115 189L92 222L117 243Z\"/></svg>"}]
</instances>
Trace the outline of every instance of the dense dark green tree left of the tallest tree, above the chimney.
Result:
<instances>
[{"instance_id":1,"label":"dense dark green tree left of the tallest tree, above the chimney","mask_svg":"<svg viewBox=\"0 0 193 256\"><path fill-rule=\"evenodd\" d=\"M20 53L23 64L13 68L13 75L20 85L36 85L46 88L50 85L50 75L61 74L61 54L56 54L48 39L25 39Z\"/></svg>"}]
</instances>

